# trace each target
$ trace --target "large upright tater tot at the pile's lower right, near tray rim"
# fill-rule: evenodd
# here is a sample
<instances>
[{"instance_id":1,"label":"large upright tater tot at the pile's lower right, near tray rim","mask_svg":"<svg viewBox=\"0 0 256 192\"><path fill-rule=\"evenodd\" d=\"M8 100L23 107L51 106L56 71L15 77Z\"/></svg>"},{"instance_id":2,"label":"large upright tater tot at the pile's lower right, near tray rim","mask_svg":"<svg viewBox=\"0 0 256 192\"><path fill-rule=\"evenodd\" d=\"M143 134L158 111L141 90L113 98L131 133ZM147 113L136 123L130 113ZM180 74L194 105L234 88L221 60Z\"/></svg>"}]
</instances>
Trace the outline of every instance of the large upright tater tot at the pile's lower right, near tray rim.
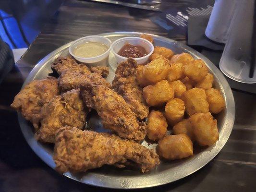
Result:
<instances>
[{"instance_id":1,"label":"large upright tater tot at the pile's lower right, near tray rim","mask_svg":"<svg viewBox=\"0 0 256 192\"><path fill-rule=\"evenodd\" d=\"M213 120L211 113L195 113L190 116L195 140L201 146L210 146L219 140L217 120Z\"/></svg>"}]
</instances>

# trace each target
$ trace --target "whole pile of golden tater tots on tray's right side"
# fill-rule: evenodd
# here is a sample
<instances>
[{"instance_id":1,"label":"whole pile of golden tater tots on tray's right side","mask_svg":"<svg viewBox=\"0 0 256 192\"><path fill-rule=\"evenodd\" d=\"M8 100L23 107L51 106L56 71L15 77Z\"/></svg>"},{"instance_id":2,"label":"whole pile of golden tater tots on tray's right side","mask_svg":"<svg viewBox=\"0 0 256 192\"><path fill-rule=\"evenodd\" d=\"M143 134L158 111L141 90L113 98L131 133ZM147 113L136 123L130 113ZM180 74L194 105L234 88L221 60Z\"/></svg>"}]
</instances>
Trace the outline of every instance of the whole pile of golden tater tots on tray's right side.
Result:
<instances>
[{"instance_id":1,"label":"whole pile of golden tater tots on tray's right side","mask_svg":"<svg viewBox=\"0 0 256 192\"><path fill-rule=\"evenodd\" d=\"M138 66L137 81L150 107L147 138L158 142L159 156L186 158L193 156L193 143L210 146L219 140L211 114L225 108L225 100L212 88L214 78L203 60L155 47L150 62ZM167 135L168 129L172 135Z\"/></svg>"}]
</instances>

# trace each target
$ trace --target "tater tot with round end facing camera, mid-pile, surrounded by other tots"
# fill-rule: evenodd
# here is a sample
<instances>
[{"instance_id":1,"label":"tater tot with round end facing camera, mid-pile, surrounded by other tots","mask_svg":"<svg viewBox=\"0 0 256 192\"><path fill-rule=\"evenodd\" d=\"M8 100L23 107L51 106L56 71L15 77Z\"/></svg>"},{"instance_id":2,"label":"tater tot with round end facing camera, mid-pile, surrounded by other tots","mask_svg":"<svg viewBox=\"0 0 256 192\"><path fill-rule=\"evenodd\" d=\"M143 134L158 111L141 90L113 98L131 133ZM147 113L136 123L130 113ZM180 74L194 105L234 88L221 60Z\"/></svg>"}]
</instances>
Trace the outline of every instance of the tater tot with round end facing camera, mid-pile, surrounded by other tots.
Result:
<instances>
[{"instance_id":1,"label":"tater tot with round end facing camera, mid-pile, surrounded by other tots","mask_svg":"<svg viewBox=\"0 0 256 192\"><path fill-rule=\"evenodd\" d=\"M174 98L167 102L165 108L165 117L171 125L175 125L182 120L185 113L185 104L183 100Z\"/></svg>"}]
</instances>

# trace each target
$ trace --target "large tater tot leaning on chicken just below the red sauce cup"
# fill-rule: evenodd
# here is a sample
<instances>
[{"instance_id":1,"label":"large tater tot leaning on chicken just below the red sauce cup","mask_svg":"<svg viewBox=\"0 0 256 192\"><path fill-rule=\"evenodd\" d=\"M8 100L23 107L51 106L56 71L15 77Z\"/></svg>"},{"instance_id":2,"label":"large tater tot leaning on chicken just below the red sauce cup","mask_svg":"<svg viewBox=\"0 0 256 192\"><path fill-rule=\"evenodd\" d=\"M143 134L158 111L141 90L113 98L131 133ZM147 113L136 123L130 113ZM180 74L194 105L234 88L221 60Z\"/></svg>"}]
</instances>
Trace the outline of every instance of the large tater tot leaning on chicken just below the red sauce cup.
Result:
<instances>
[{"instance_id":1,"label":"large tater tot leaning on chicken just below the red sauce cup","mask_svg":"<svg viewBox=\"0 0 256 192\"><path fill-rule=\"evenodd\" d=\"M137 74L138 83L141 86L146 86L149 84L156 84L165 79L171 70L171 66L166 59L159 57L142 66L139 70L140 71Z\"/></svg>"}]
</instances>

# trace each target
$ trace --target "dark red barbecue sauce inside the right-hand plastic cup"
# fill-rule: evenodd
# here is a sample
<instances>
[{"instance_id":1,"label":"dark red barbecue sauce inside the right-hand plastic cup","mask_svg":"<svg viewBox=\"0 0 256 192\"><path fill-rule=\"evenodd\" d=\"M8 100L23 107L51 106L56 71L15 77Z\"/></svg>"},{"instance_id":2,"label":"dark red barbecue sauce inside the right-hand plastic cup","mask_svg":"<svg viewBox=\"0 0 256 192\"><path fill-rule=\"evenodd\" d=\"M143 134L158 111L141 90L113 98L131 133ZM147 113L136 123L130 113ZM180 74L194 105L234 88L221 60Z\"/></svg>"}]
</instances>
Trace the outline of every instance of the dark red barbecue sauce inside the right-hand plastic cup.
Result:
<instances>
[{"instance_id":1,"label":"dark red barbecue sauce inside the right-hand plastic cup","mask_svg":"<svg viewBox=\"0 0 256 192\"><path fill-rule=\"evenodd\" d=\"M118 51L118 55L122 57L139 58L147 55L146 49L139 45L131 45L125 43L124 46Z\"/></svg>"}]
</instances>

